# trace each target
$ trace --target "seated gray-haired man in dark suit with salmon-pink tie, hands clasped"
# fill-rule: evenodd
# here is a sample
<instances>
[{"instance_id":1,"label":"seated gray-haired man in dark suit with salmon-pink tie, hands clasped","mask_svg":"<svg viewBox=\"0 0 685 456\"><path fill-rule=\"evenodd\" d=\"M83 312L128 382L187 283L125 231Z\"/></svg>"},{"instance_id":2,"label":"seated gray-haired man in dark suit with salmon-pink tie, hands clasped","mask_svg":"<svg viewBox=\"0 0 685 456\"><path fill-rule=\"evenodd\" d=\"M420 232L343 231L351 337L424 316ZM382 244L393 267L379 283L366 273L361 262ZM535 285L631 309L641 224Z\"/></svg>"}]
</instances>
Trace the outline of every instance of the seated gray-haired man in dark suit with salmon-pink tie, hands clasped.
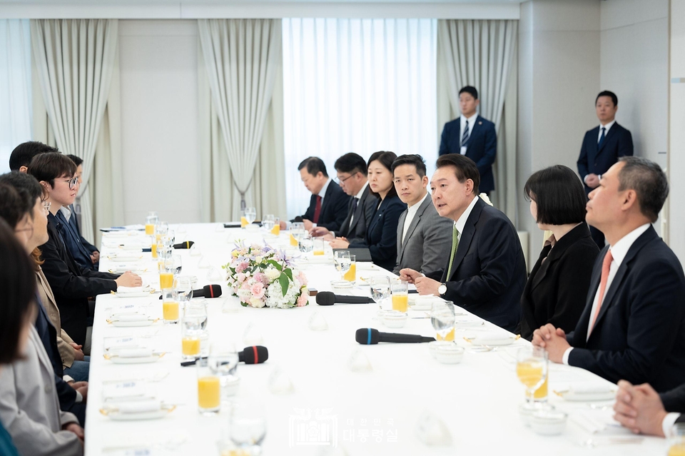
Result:
<instances>
[{"instance_id":1,"label":"seated gray-haired man in dark suit with salmon-pink tie, hands clasped","mask_svg":"<svg viewBox=\"0 0 685 456\"><path fill-rule=\"evenodd\" d=\"M685 373L685 275L656 234L669 194L664 171L645 158L623 157L589 195L586 220L602 230L590 290L575 330L547 324L533 345L549 360L584 368L609 381L649 382L671 390Z\"/></svg>"}]
</instances>

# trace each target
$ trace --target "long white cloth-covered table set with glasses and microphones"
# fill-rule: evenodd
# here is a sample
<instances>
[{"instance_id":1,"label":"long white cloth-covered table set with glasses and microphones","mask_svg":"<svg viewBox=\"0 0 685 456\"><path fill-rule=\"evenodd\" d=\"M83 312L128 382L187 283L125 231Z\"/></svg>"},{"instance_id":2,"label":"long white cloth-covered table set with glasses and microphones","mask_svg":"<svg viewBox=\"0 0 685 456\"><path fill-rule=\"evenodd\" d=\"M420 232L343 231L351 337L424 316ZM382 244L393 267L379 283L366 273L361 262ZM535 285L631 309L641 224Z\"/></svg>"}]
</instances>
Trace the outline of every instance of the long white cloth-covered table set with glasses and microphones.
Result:
<instances>
[{"instance_id":1,"label":"long white cloth-covered table set with glasses and microphones","mask_svg":"<svg viewBox=\"0 0 685 456\"><path fill-rule=\"evenodd\" d=\"M177 233L177 237L194 240L202 258L219 270L230 258L234 239L261 242L263 238L260 230L224 229L218 224L187 225L183 230L187 232ZM287 236L282 233L280 238L267 240L272 245L285 247ZM108 236L103 236L103 243L107 240ZM106 258L113 250L103 248L101 269L114 264ZM201 257L191 256L188 250L176 250L176 253L183 257L183 274L196 275L200 287L213 283L207 279L208 269L198 268ZM156 263L149 253L143 255L148 270L154 271L142 274L143 283L158 288ZM358 264L357 276L387 273L376 267L369 270L370 267ZM318 290L330 290L330 280L338 277L332 262L310 265L303 270L310 285ZM443 365L430 356L427 344L362 346L355 342L355 330L367 327L432 336L435 332L430 318L412 318L404 328L390 330L375 320L377 305L321 307L310 298L310 305L304 308L243 308L237 298L228 296L225 281L220 283L224 296L207 300L210 338L230 340L242 347L245 328L252 323L263 335L263 345L269 350L266 363L238 366L241 383L235 397L237 401L258 400L265 406L268 432L264 455L584 455L589 451L598 455L646 455L666 452L663 439L625 440L629 432L619 427L609 427L593 435L577 425L577 421L601 421L610 416L607 408L611 402L599 403L609 406L601 410L584 402L566 402L552 390L608 382L587 371L563 365L550 367L549 402L569 414L564 434L544 437L525 427L518 413L524 388L517 379L512 356L516 347L527 344L525 341L518 340L508 348L484 353L467 349L462 363ZM360 286L355 293L368 291ZM160 321L146 328L113 328L106 323L106 318L113 306L123 301L140 305L144 312L161 317L158 295L126 299L98 296L93 324L86 455L218 455L216 442L226 437L228 429L227 407L213 417L198 413L196 370L180 366L180 325L163 325ZM328 330L310 329L314 313L323 316ZM473 315L470 318L477 319ZM484 327L501 331L489 323ZM469 334L477 335L477 332L458 330L457 343L467 348L463 337ZM148 336L156 350L167 354L152 364L113 365L103 358L103 338L126 335ZM350 369L350 358L355 353L361 353L362 359L366 357L372 370ZM276 371L292 381L292 393L270 392L269 379ZM141 378L156 379L151 388L165 402L176 404L176 410L162 419L148 421L113 421L101 415L98 410L103 402L103 382ZM445 423L452 437L450 446L429 447L417 438L417 422L424 413ZM325 429L337 445L335 452L325 453L326 447L308 445L315 439L302 433ZM594 450L589 449L592 445ZM131 452L142 447L151 447L151 452Z\"/></svg>"}]
</instances>

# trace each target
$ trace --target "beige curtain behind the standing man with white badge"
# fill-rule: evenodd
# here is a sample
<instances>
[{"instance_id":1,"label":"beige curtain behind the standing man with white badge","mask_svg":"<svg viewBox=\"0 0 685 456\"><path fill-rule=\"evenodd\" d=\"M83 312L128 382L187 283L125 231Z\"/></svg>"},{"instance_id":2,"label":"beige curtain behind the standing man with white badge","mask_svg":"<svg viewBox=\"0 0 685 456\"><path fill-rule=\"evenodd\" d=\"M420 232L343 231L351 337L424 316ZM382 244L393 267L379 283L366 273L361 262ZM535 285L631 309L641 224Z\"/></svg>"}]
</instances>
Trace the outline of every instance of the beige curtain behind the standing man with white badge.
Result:
<instances>
[{"instance_id":1,"label":"beige curtain behind the standing man with white badge","mask_svg":"<svg viewBox=\"0 0 685 456\"><path fill-rule=\"evenodd\" d=\"M516 64L518 21L437 21L438 138L447 121L457 118L459 91L475 86L480 114L494 122L497 159L491 199L515 222L516 183Z\"/></svg>"}]
</instances>

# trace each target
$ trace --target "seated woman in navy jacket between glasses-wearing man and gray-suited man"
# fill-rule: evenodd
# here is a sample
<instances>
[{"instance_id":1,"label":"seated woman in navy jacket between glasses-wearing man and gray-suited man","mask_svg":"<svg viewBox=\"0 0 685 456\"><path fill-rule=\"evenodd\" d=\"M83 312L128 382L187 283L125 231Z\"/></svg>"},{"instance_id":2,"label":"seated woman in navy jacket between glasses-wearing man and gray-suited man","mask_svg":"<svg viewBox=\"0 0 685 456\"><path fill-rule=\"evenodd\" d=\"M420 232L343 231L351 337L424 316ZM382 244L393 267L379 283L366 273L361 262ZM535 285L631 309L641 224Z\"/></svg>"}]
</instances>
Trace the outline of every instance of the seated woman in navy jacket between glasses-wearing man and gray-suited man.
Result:
<instances>
[{"instance_id":1,"label":"seated woman in navy jacket between glasses-wearing man and gray-suited man","mask_svg":"<svg viewBox=\"0 0 685 456\"><path fill-rule=\"evenodd\" d=\"M375 265L392 270L397 264L397 224L407 205L402 203L395 190L392 175L394 152L374 152L369 157L367 176L372 195L378 198L376 212L366 228L366 243L350 244L344 238L331 241L333 248L365 248L371 253Z\"/></svg>"}]
</instances>

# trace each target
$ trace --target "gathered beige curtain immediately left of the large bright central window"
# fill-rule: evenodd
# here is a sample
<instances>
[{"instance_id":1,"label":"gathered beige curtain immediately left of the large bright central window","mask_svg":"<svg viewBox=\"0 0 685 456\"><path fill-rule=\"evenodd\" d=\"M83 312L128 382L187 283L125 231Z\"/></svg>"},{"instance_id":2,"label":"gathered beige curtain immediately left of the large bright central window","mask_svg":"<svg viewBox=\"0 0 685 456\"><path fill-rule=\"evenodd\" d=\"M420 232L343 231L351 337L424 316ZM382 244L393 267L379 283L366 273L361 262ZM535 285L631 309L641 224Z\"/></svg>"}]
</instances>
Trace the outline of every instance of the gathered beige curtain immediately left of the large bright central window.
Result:
<instances>
[{"instance_id":1,"label":"gathered beige curtain immediately left of the large bright central window","mask_svg":"<svg viewBox=\"0 0 685 456\"><path fill-rule=\"evenodd\" d=\"M282 59L281 21L200 19L198 27L213 113L219 121L233 188L240 195L240 207L245 207L258 159L270 161L269 156L260 156L260 144ZM224 176L228 175L220 177ZM250 201L253 204L256 201ZM231 218L239 216L240 210L232 208Z\"/></svg>"}]
</instances>

